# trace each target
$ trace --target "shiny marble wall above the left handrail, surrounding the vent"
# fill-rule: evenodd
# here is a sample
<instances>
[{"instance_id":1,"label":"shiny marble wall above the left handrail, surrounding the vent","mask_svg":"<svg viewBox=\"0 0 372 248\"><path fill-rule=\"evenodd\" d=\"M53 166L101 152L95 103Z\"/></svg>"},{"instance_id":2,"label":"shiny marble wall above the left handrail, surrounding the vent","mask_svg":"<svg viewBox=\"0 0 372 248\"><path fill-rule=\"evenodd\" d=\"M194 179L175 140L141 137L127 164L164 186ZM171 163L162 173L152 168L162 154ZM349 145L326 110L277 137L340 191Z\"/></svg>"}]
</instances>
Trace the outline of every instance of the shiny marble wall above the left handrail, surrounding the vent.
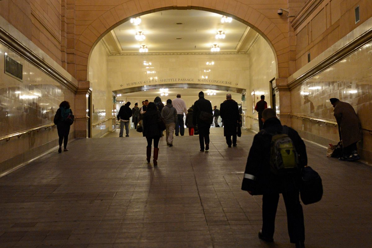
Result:
<instances>
[{"instance_id":1,"label":"shiny marble wall above the left handrail, surrounding the vent","mask_svg":"<svg viewBox=\"0 0 372 248\"><path fill-rule=\"evenodd\" d=\"M74 94L54 79L0 44L0 68L4 53L22 63L23 81L0 73L0 136L53 122L61 101L74 111Z\"/></svg>"}]
</instances>

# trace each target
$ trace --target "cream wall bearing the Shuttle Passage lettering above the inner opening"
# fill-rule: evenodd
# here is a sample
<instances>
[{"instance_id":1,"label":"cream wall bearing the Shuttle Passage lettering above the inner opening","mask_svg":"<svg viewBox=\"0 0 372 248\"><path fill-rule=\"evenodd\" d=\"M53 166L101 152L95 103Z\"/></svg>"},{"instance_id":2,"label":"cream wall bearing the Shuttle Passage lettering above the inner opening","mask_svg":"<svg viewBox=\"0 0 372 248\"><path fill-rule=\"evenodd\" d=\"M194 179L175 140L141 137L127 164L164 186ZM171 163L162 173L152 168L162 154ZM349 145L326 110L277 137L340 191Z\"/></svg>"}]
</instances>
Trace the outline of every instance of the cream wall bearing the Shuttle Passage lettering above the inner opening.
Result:
<instances>
[{"instance_id":1,"label":"cream wall bearing the Shuttle Passage lettering above the inner opening","mask_svg":"<svg viewBox=\"0 0 372 248\"><path fill-rule=\"evenodd\" d=\"M144 61L151 62L151 65L144 65ZM206 62L211 61L214 61L214 65L206 65ZM148 74L148 71L154 73ZM108 58L108 81L113 90L145 85L166 87L168 84L205 84L246 89L249 85L248 75L247 55L139 55ZM208 79L202 76L208 76Z\"/></svg>"}]
</instances>

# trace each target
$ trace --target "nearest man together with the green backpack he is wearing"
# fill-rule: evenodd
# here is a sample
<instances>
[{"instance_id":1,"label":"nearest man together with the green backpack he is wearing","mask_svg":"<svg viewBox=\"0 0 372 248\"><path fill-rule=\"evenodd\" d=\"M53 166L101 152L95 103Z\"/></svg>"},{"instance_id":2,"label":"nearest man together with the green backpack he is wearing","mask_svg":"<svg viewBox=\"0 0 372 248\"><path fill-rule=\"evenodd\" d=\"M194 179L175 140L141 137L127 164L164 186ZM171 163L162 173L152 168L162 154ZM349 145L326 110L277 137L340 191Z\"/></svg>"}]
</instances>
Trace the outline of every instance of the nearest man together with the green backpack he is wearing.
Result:
<instances>
[{"instance_id":1,"label":"nearest man together with the green backpack he is wearing","mask_svg":"<svg viewBox=\"0 0 372 248\"><path fill-rule=\"evenodd\" d=\"M304 141L298 133L282 126L276 112L262 112L263 129L254 136L249 151L242 190L262 197L262 230L259 238L273 242L279 194L286 206L288 233L296 248L304 248L304 214L299 201L301 169L307 165Z\"/></svg>"}]
</instances>

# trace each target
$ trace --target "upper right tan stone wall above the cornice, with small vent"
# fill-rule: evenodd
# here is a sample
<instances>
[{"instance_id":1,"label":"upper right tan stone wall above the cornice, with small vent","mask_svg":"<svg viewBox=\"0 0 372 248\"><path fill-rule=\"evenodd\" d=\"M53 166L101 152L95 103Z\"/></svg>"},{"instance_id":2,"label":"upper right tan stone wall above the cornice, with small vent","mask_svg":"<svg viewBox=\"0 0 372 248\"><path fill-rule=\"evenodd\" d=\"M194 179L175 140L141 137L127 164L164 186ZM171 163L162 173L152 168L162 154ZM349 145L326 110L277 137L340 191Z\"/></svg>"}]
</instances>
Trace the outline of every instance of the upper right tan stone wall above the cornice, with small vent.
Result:
<instances>
[{"instance_id":1,"label":"upper right tan stone wall above the cornice, with small vent","mask_svg":"<svg viewBox=\"0 0 372 248\"><path fill-rule=\"evenodd\" d=\"M309 1L309 4L315 1ZM360 22L355 24L355 7L360 8ZM296 19L306 17L303 22ZM320 55L334 43L362 25L372 16L370 0L324 0L310 14L299 13L292 25L296 35L296 70Z\"/></svg>"}]
</instances>

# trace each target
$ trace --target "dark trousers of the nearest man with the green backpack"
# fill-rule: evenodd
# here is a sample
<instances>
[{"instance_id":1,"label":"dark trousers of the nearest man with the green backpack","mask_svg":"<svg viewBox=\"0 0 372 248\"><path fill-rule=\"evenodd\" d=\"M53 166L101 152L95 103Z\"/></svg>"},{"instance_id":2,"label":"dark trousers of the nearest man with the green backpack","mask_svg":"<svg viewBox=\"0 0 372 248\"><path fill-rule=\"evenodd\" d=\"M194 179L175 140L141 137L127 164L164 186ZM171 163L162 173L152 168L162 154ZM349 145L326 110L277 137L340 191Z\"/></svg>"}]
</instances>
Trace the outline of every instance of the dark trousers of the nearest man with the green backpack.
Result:
<instances>
[{"instance_id":1,"label":"dark trousers of the nearest man with the green backpack","mask_svg":"<svg viewBox=\"0 0 372 248\"><path fill-rule=\"evenodd\" d=\"M287 212L288 234L291 243L305 241L304 213L299 201L299 190L293 178L283 180L282 195ZM279 193L262 196L262 233L267 237L274 235L275 215L278 208Z\"/></svg>"}]
</instances>

